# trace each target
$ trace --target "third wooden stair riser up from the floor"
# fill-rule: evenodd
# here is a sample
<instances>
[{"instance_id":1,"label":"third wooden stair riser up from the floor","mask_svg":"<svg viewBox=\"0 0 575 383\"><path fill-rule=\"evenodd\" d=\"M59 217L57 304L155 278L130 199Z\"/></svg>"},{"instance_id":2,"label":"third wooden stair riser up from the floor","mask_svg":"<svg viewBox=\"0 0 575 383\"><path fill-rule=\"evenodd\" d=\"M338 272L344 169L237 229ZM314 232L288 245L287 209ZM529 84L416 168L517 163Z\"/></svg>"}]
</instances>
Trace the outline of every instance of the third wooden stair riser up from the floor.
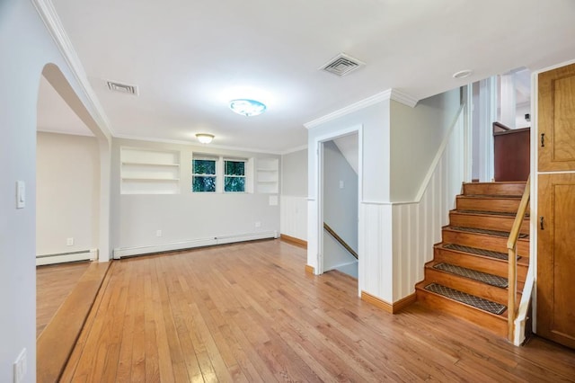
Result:
<instances>
[{"instance_id":1,"label":"third wooden stair riser up from the floor","mask_svg":"<svg viewBox=\"0 0 575 383\"><path fill-rule=\"evenodd\" d=\"M459 253L436 247L434 249L434 260L437 263L445 262L457 266L466 267L467 269L477 270L478 272L487 272L488 274L498 275L503 278L508 276L509 265L507 261L494 260L468 253ZM517 263L517 289L522 290L526 280L527 266Z\"/></svg>"}]
</instances>

